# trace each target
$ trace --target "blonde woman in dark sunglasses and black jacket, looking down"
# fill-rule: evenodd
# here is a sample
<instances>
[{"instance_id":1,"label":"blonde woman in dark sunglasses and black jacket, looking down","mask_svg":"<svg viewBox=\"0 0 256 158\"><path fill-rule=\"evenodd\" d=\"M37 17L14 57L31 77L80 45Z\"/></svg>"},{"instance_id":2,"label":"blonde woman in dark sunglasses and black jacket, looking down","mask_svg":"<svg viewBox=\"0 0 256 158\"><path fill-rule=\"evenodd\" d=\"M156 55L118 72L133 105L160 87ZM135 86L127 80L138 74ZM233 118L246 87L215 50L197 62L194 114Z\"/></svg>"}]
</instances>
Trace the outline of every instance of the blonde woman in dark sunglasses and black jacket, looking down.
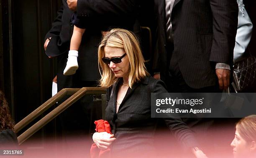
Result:
<instances>
[{"instance_id":1,"label":"blonde woman in dark sunglasses and black jacket, looking down","mask_svg":"<svg viewBox=\"0 0 256 158\"><path fill-rule=\"evenodd\" d=\"M151 155L159 121L151 118L151 93L166 93L164 82L149 76L138 40L128 30L113 29L104 36L98 62L100 86L108 88L105 118L113 135L96 132L93 141L102 150L110 148L111 157ZM186 147L198 149L192 131L179 118L165 122ZM199 149L195 154L205 156Z\"/></svg>"}]
</instances>

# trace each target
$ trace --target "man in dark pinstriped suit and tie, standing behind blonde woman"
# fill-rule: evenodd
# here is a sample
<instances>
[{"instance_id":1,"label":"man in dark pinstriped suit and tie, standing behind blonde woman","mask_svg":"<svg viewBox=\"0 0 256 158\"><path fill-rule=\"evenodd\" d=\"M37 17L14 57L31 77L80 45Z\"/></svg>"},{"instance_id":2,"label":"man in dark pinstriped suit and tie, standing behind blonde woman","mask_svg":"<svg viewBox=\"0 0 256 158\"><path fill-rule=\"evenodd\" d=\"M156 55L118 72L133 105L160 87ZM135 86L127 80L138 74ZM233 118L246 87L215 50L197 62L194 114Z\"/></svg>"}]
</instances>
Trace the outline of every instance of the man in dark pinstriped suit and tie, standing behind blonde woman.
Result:
<instances>
[{"instance_id":1,"label":"man in dark pinstriped suit and tie, standing behind blonde woman","mask_svg":"<svg viewBox=\"0 0 256 158\"><path fill-rule=\"evenodd\" d=\"M161 72L168 90L227 89L238 22L236 0L154 2L158 20L155 71Z\"/></svg>"}]
</instances>

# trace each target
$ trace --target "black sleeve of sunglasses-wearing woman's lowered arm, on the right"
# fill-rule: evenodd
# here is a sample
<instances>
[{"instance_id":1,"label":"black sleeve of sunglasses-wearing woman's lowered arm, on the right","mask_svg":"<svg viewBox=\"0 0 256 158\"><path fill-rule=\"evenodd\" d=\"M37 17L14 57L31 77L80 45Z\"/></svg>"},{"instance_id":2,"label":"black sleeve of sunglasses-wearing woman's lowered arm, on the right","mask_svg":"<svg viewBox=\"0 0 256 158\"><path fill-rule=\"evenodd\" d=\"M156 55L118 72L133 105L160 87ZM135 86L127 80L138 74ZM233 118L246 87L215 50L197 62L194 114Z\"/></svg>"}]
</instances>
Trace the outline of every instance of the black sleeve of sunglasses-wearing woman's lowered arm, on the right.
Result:
<instances>
[{"instance_id":1,"label":"black sleeve of sunglasses-wearing woman's lowered arm, on the right","mask_svg":"<svg viewBox=\"0 0 256 158\"><path fill-rule=\"evenodd\" d=\"M157 80L153 93L167 93L165 84L161 80ZM194 133L180 118L164 118L168 128L173 131L175 138L185 149L189 150L194 146L199 146Z\"/></svg>"}]
</instances>

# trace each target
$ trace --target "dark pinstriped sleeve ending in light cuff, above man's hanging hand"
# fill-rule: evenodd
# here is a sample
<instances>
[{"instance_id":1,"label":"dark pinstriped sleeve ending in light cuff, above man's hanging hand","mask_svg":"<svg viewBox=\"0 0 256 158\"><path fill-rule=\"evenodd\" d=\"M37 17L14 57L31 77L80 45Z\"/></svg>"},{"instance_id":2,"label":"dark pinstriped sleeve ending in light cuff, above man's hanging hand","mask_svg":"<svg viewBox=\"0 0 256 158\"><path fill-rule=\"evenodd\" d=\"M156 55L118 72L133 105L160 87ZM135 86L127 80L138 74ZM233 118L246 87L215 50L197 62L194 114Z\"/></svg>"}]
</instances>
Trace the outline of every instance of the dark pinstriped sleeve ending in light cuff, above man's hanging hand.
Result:
<instances>
[{"instance_id":1,"label":"dark pinstriped sleeve ending in light cuff, above man's hanging hand","mask_svg":"<svg viewBox=\"0 0 256 158\"><path fill-rule=\"evenodd\" d=\"M236 0L210 0L213 18L211 62L232 64L238 25Z\"/></svg>"}]
</instances>

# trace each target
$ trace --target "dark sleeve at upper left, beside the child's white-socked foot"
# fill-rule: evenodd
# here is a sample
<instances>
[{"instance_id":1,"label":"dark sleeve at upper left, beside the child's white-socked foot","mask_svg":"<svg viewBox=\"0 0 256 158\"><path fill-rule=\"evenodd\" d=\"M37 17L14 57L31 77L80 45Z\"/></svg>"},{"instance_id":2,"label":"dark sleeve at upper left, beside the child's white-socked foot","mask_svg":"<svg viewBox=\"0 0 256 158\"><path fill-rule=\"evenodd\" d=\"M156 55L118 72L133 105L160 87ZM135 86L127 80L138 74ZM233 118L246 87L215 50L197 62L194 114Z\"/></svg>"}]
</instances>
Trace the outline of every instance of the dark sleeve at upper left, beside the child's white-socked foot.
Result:
<instances>
[{"instance_id":1,"label":"dark sleeve at upper left, beside the child's white-socked foot","mask_svg":"<svg viewBox=\"0 0 256 158\"><path fill-rule=\"evenodd\" d=\"M60 32L61 32L61 25L62 25L62 22L61 22L62 13L63 13L63 3L61 3L61 8L57 12L58 15L57 15L56 19L54 20L54 22L51 24L51 30L49 30L47 32L47 34L45 35L44 41L47 38L49 38L49 37L52 37L54 35L56 36L56 35L60 34Z\"/></svg>"}]
</instances>

